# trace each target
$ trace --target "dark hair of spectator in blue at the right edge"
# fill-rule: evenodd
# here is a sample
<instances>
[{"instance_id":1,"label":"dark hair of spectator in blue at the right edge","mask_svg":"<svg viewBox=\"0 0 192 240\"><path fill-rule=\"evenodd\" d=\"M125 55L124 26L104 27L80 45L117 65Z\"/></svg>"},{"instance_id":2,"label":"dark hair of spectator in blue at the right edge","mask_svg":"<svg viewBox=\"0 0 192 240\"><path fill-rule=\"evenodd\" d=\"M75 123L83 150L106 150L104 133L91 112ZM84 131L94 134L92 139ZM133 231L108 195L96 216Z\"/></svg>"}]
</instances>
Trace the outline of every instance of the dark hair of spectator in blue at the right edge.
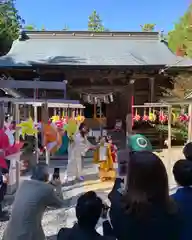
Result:
<instances>
[{"instance_id":1,"label":"dark hair of spectator in blue at the right edge","mask_svg":"<svg viewBox=\"0 0 192 240\"><path fill-rule=\"evenodd\" d=\"M175 181L183 187L192 186L192 161L179 160L173 166Z\"/></svg>"}]
</instances>

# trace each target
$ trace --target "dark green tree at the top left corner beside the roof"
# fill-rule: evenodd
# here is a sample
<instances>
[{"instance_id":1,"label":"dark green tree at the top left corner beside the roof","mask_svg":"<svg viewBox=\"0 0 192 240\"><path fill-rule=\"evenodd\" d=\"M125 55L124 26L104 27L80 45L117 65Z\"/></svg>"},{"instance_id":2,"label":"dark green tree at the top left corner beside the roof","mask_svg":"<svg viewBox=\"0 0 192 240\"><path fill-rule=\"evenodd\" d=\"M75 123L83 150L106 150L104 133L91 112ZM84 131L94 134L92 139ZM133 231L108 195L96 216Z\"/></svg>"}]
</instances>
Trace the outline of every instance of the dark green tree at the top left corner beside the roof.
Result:
<instances>
[{"instance_id":1,"label":"dark green tree at the top left corner beside the roof","mask_svg":"<svg viewBox=\"0 0 192 240\"><path fill-rule=\"evenodd\" d=\"M19 30L24 20L15 8L14 0L0 4L0 55L7 53L12 41L19 36Z\"/></svg>"}]
</instances>

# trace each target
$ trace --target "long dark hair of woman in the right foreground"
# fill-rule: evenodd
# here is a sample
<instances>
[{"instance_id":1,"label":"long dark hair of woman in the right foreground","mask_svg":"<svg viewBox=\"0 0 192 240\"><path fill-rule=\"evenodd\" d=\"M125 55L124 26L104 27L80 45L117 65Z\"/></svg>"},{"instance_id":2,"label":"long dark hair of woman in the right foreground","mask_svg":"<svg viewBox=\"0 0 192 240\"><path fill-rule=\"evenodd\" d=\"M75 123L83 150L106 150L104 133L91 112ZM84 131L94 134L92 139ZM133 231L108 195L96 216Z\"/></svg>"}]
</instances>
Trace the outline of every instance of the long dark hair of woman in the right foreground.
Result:
<instances>
[{"instance_id":1,"label":"long dark hair of woman in the right foreground","mask_svg":"<svg viewBox=\"0 0 192 240\"><path fill-rule=\"evenodd\" d=\"M123 205L128 214L139 219L148 218L154 205L167 213L175 212L165 166L152 152L130 152Z\"/></svg>"}]
</instances>

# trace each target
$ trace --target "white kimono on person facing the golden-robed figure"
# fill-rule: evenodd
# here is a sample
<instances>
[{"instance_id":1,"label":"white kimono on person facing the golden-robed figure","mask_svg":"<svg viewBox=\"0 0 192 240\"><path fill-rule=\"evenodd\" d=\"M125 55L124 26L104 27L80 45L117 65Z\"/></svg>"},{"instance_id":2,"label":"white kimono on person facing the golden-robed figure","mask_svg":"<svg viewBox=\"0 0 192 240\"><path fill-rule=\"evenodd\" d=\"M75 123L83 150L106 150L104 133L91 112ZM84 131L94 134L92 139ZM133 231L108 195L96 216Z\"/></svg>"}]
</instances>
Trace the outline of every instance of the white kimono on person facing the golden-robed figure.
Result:
<instances>
[{"instance_id":1,"label":"white kimono on person facing the golden-robed figure","mask_svg":"<svg viewBox=\"0 0 192 240\"><path fill-rule=\"evenodd\" d=\"M66 178L79 179L82 176L82 156L89 149L89 142L86 137L82 137L78 132L69 143L68 147L68 165Z\"/></svg>"}]
</instances>

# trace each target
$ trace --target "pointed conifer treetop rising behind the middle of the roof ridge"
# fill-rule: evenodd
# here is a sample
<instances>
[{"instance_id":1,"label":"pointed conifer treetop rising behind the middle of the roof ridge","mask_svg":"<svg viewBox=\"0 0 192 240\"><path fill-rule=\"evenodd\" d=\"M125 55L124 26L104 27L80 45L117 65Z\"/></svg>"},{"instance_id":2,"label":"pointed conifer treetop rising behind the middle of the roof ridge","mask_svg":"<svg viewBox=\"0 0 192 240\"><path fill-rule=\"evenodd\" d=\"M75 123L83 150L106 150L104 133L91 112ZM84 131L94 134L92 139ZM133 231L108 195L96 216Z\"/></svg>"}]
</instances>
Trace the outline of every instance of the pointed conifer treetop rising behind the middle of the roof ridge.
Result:
<instances>
[{"instance_id":1,"label":"pointed conifer treetop rising behind the middle of the roof ridge","mask_svg":"<svg viewBox=\"0 0 192 240\"><path fill-rule=\"evenodd\" d=\"M94 10L88 18L88 30L93 32L105 31L99 14Z\"/></svg>"}]
</instances>

